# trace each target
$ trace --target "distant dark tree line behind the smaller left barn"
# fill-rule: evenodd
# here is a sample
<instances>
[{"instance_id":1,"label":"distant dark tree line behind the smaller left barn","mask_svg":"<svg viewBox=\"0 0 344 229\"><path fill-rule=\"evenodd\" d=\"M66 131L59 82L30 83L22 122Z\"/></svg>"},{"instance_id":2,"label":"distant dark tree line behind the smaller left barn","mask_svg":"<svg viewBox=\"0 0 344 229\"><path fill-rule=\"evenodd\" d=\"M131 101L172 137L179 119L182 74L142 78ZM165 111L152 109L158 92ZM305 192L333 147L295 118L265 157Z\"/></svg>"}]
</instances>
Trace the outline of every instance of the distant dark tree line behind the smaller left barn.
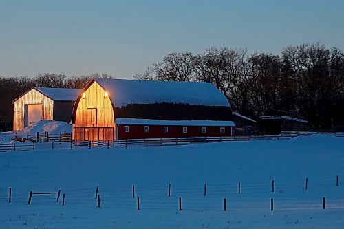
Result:
<instances>
[{"instance_id":1,"label":"distant dark tree line behind the smaller left barn","mask_svg":"<svg viewBox=\"0 0 344 229\"><path fill-rule=\"evenodd\" d=\"M84 88L92 78L113 78L105 73L85 76L65 76L64 74L37 74L34 78L28 76L0 76L0 131L10 131L13 126L12 101L32 87L61 87Z\"/></svg>"}]
</instances>

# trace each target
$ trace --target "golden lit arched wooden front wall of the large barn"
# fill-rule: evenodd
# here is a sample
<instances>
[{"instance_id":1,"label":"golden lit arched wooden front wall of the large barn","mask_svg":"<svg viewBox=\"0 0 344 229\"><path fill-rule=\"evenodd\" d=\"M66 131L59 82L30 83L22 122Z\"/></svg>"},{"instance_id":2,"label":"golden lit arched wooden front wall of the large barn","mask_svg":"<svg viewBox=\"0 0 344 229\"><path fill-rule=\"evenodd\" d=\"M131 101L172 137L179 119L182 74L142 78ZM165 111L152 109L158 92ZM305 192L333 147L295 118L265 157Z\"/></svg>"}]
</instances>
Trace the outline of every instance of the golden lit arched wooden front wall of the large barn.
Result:
<instances>
[{"instance_id":1,"label":"golden lit arched wooden front wall of the large barn","mask_svg":"<svg viewBox=\"0 0 344 229\"><path fill-rule=\"evenodd\" d=\"M94 82L86 91L86 98L77 100L75 120L73 124L74 140L112 140L116 133L113 132L115 127L114 109L112 108L110 96L104 98L104 89ZM96 124L92 124L90 110L96 109ZM87 127L77 128L77 127ZM103 129L102 127L111 127L111 129ZM100 133L101 132L101 133Z\"/></svg>"}]
</instances>

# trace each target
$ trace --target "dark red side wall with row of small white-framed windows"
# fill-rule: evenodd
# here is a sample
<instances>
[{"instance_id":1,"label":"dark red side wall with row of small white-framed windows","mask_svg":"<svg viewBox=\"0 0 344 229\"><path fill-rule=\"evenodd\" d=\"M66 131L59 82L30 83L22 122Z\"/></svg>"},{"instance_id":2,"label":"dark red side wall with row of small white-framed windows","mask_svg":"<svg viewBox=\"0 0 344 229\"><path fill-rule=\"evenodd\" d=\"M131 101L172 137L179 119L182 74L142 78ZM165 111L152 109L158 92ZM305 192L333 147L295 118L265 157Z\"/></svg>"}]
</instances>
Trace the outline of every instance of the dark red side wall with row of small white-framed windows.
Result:
<instances>
[{"instance_id":1,"label":"dark red side wall with row of small white-framed windows","mask_svg":"<svg viewBox=\"0 0 344 229\"><path fill-rule=\"evenodd\" d=\"M124 127L129 126L129 132L125 132ZM144 133L144 126L149 126L149 133ZM164 127L169 127L169 133L164 133ZM201 128L188 126L188 133L183 133L183 127L186 126L168 126L168 125L133 125L118 124L118 139L133 138L189 138L189 137L219 137L230 136L230 127L225 127L225 133L220 133L220 127L206 127L206 133L202 133Z\"/></svg>"}]
</instances>

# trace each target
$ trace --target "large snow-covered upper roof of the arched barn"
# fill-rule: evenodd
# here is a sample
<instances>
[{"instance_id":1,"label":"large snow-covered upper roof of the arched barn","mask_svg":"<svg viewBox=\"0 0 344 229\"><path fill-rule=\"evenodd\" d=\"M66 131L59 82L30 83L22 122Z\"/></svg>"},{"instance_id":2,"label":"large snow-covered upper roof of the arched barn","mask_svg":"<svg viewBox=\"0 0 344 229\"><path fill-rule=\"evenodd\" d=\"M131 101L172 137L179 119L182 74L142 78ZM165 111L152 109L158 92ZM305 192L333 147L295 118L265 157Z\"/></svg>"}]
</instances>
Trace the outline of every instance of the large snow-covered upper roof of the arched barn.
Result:
<instances>
[{"instance_id":1,"label":"large snow-covered upper roof of the arched barn","mask_svg":"<svg viewBox=\"0 0 344 229\"><path fill-rule=\"evenodd\" d=\"M227 98L211 83L96 78L114 107L156 102L230 107Z\"/></svg>"}]
</instances>

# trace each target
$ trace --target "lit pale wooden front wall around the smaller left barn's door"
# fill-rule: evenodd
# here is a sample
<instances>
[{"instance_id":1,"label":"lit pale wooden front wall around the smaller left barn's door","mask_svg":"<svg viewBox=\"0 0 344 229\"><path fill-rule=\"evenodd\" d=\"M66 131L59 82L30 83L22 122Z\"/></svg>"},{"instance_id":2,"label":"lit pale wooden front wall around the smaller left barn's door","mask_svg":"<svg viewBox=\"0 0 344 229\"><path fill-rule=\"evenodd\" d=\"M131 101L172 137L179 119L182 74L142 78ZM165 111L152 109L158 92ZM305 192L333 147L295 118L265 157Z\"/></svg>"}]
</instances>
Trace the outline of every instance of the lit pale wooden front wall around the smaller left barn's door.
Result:
<instances>
[{"instance_id":1,"label":"lit pale wooden front wall around the smaller left barn's door","mask_svg":"<svg viewBox=\"0 0 344 229\"><path fill-rule=\"evenodd\" d=\"M18 100L13 102L13 129L24 129L24 105L42 104L42 120L53 119L54 101L44 96L39 91L31 89Z\"/></svg>"}]
</instances>

